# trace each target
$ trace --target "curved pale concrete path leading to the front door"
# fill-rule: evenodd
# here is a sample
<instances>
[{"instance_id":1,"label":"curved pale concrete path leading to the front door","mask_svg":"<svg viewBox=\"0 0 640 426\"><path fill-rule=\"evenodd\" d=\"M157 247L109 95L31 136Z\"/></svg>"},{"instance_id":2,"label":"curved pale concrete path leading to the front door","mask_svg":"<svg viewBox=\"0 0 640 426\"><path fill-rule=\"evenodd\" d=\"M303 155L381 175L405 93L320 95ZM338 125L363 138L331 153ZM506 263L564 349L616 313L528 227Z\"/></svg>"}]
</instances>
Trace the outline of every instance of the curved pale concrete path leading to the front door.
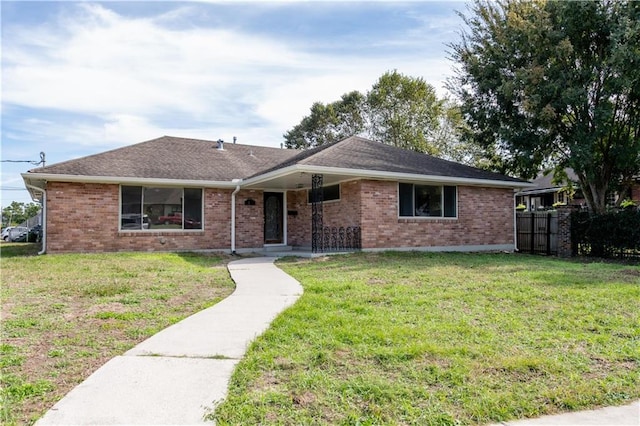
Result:
<instances>
[{"instance_id":1,"label":"curved pale concrete path leading to the front door","mask_svg":"<svg viewBox=\"0 0 640 426\"><path fill-rule=\"evenodd\" d=\"M224 399L249 343L302 294L274 258L229 263L235 291L104 364L37 425L195 425Z\"/></svg>"}]
</instances>

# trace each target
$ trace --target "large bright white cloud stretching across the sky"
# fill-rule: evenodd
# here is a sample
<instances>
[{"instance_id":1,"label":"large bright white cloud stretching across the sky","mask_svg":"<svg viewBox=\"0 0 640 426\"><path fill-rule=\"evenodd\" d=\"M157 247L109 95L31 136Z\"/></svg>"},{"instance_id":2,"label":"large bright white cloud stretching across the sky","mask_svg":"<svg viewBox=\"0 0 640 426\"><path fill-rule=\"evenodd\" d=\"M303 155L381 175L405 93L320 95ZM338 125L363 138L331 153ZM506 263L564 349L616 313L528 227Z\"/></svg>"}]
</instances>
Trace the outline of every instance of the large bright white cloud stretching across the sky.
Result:
<instances>
[{"instance_id":1,"label":"large bright white cloud stretching across the sky","mask_svg":"<svg viewBox=\"0 0 640 426\"><path fill-rule=\"evenodd\" d=\"M91 117L39 126L43 138L60 132L49 140L117 146L166 133L244 133L277 145L314 101L364 92L385 71L423 76L441 94L449 74L444 58L418 48L411 56L398 49L387 57L357 50L334 57L306 51L301 40L176 25L198 13L197 5L146 18L119 15L108 5L69 5L71 13L55 22L6 31L3 103ZM409 32L390 43L428 40Z\"/></svg>"}]
</instances>

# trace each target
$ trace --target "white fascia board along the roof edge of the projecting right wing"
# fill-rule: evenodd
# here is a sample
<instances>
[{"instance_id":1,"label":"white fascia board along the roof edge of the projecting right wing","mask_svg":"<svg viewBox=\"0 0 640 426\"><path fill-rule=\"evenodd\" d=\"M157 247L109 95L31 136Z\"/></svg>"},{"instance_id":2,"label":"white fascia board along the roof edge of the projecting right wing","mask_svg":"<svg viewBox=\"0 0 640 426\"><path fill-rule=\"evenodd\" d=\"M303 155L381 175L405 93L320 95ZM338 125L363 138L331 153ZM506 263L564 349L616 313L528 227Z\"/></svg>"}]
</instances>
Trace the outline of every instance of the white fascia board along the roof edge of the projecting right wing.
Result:
<instances>
[{"instance_id":1,"label":"white fascia board along the roof edge of the projecting right wing","mask_svg":"<svg viewBox=\"0 0 640 426\"><path fill-rule=\"evenodd\" d=\"M269 181L271 179L283 177L292 173L309 173L309 174L334 174L343 175L357 178L369 178L369 179L381 179L381 180L407 180L416 182L437 182L437 183L449 183L456 185L473 185L473 186L493 186L501 188L530 188L535 186L529 182L508 182L502 180L490 180L490 179L470 179L462 177L451 176L433 176L433 175L421 175L412 173L397 173L397 172L384 172L379 170L358 170L358 169L346 169L340 167L323 167L323 166L308 166L304 164L296 164L293 166L285 167L267 173L265 175L256 176L253 179L244 181L244 185L255 185L262 182Z\"/></svg>"}]
</instances>

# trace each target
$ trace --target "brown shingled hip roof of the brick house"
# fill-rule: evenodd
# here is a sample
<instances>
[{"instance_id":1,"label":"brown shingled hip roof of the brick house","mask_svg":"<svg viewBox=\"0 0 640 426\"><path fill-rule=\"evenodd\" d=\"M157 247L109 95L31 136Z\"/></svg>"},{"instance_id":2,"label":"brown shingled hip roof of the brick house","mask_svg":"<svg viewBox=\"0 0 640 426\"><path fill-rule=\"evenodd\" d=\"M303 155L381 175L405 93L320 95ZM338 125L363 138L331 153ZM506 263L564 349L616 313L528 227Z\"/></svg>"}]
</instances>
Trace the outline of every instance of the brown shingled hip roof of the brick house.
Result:
<instances>
[{"instance_id":1,"label":"brown shingled hip roof of the brick house","mask_svg":"<svg viewBox=\"0 0 640 426\"><path fill-rule=\"evenodd\" d=\"M523 188L528 182L360 137L299 151L163 136L147 142L30 170L30 189L47 180L205 186L301 188L310 175L324 184L354 177L414 179ZM32 192L33 193L33 192Z\"/></svg>"}]
</instances>

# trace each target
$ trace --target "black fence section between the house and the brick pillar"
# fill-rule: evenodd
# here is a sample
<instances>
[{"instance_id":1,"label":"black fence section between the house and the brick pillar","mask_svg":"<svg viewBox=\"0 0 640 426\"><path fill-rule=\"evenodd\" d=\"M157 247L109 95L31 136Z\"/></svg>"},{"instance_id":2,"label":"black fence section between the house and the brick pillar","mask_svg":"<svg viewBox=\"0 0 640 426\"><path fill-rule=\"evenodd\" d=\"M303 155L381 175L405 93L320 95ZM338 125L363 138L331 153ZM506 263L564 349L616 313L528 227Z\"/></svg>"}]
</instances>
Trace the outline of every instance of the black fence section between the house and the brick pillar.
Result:
<instances>
[{"instance_id":1,"label":"black fence section between the house and the brick pillar","mask_svg":"<svg viewBox=\"0 0 640 426\"><path fill-rule=\"evenodd\" d=\"M558 254L558 213L516 213L518 251L532 254Z\"/></svg>"}]
</instances>

